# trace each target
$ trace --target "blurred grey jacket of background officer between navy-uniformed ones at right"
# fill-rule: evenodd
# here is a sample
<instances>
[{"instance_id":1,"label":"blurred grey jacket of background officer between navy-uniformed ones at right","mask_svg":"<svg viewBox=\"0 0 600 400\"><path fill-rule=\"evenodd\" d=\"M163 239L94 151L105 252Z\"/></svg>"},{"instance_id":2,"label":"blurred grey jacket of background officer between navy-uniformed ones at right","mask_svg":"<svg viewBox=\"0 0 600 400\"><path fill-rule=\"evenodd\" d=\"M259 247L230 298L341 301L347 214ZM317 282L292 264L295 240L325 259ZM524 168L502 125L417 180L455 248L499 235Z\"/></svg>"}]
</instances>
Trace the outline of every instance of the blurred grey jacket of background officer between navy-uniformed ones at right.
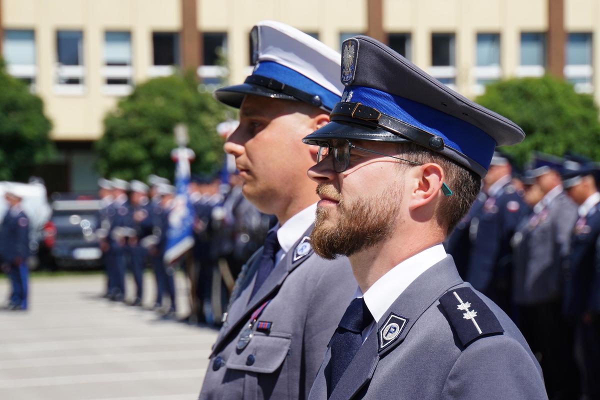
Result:
<instances>
[{"instance_id":1,"label":"blurred grey jacket of background officer between navy-uniformed ones at right","mask_svg":"<svg viewBox=\"0 0 600 400\"><path fill-rule=\"evenodd\" d=\"M521 222L512 238L515 303L535 305L560 299L563 265L577 217L577 206L563 191Z\"/></svg>"}]
</instances>

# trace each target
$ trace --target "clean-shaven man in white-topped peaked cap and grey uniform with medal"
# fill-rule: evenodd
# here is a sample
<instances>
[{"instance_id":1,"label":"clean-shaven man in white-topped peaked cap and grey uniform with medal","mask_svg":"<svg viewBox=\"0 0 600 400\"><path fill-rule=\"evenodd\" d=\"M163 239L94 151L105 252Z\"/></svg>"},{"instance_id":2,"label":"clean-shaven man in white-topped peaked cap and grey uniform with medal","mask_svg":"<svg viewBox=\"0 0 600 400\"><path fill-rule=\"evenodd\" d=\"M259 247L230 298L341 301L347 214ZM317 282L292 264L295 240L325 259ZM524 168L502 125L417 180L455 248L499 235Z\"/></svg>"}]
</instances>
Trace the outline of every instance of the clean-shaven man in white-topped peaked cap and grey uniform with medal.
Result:
<instances>
[{"instance_id":1,"label":"clean-shaven man in white-topped peaked cap and grey uniform with medal","mask_svg":"<svg viewBox=\"0 0 600 400\"><path fill-rule=\"evenodd\" d=\"M319 199L306 170L316 148L302 144L340 100L340 54L278 22L258 23L251 41L253 74L215 95L240 108L225 151L235 156L242 194L279 223L238 276L202 400L307 398L356 285L347 258L313 252Z\"/></svg>"}]
</instances>

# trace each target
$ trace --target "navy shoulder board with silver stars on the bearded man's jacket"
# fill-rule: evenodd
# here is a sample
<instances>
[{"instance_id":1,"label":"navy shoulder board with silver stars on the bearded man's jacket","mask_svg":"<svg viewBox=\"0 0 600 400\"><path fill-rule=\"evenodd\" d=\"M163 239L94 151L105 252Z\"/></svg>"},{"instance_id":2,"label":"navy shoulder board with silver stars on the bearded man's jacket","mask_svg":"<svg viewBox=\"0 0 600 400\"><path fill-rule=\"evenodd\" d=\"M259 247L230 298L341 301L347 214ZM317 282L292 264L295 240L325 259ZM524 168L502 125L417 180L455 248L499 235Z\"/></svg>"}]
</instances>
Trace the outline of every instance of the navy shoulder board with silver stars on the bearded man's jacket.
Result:
<instances>
[{"instance_id":1,"label":"navy shoulder board with silver stars on the bearded man's jacket","mask_svg":"<svg viewBox=\"0 0 600 400\"><path fill-rule=\"evenodd\" d=\"M504 332L496 315L470 287L449 290L440 297L440 305L464 347Z\"/></svg>"}]
</instances>

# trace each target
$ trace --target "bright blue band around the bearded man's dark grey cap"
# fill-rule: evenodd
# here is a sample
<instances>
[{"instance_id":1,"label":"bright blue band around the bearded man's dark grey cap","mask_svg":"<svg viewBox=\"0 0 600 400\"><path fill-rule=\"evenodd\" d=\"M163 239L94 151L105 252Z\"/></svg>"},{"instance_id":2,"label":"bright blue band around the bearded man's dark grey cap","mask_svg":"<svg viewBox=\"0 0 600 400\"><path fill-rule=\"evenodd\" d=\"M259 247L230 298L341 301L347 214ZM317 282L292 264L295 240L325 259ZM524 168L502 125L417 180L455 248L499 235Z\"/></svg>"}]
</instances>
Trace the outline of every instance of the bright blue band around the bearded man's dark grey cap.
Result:
<instances>
[{"instance_id":1,"label":"bright blue band around the bearded man's dark grey cap","mask_svg":"<svg viewBox=\"0 0 600 400\"><path fill-rule=\"evenodd\" d=\"M469 122L416 101L366 86L348 86L344 89L342 98L373 107L380 113L442 137L446 146L461 152L485 169L490 167L496 141Z\"/></svg>"}]
</instances>

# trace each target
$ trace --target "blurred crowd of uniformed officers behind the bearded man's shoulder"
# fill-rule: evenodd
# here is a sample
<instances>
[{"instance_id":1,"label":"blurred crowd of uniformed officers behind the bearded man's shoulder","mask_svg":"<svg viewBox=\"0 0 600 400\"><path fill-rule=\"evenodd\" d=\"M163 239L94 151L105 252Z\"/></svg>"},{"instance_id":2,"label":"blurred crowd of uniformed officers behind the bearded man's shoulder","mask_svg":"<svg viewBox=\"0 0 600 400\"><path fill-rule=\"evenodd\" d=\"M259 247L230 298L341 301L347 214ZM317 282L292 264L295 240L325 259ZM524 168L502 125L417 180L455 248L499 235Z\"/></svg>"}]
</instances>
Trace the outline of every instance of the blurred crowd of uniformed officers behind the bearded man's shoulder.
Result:
<instances>
[{"instance_id":1,"label":"blurred crowd of uniformed officers behind the bearded man's shoulder","mask_svg":"<svg viewBox=\"0 0 600 400\"><path fill-rule=\"evenodd\" d=\"M578 155L535 154L521 173L497 152L445 243L462 278L517 323L551 399L578 398L600 371L598 172Z\"/></svg>"}]
</instances>

